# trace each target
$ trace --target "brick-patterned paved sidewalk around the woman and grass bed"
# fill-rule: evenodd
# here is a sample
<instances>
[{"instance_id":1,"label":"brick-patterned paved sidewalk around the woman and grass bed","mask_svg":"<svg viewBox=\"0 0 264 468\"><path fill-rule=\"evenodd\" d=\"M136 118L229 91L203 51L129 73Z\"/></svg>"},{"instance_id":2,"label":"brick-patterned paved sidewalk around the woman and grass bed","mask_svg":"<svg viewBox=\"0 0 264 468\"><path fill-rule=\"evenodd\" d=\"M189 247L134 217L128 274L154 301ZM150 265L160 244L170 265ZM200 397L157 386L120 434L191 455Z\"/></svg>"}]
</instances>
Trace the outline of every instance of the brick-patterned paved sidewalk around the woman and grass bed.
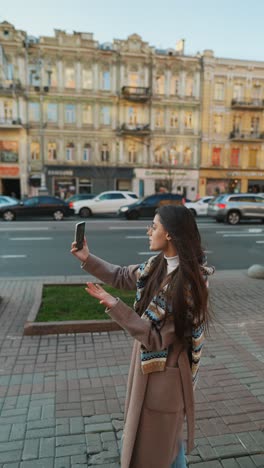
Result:
<instances>
[{"instance_id":1,"label":"brick-patterned paved sidewalk around the woman and grass bed","mask_svg":"<svg viewBox=\"0 0 264 468\"><path fill-rule=\"evenodd\" d=\"M43 280L0 281L0 468L117 468L132 340L122 331L23 337ZM211 297L189 467L263 468L264 282L219 272Z\"/></svg>"}]
</instances>

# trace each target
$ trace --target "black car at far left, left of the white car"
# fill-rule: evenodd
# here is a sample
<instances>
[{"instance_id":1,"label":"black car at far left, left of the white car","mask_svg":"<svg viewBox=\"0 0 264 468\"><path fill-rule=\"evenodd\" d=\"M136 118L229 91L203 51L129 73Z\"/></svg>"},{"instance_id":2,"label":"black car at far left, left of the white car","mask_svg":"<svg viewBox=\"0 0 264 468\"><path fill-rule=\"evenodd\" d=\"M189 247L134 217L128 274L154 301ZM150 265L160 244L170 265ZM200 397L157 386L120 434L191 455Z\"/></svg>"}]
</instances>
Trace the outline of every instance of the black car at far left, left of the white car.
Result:
<instances>
[{"instance_id":1,"label":"black car at far left, left of the white car","mask_svg":"<svg viewBox=\"0 0 264 468\"><path fill-rule=\"evenodd\" d=\"M19 217L53 216L56 221L61 221L64 216L74 214L68 203L57 197L41 195L30 197L18 202L16 205L0 207L0 215L4 221L14 221Z\"/></svg>"}]
</instances>

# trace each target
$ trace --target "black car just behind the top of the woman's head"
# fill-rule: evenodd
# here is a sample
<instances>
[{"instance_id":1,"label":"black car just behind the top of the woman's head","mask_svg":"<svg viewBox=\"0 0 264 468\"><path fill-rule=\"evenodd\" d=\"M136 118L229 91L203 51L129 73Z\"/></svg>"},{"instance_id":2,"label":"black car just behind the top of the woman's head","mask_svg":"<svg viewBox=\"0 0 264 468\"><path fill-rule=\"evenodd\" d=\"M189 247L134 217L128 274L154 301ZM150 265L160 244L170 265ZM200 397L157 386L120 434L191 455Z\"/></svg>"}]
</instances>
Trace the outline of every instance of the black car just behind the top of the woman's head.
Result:
<instances>
[{"instance_id":1,"label":"black car just behind the top of the woman's head","mask_svg":"<svg viewBox=\"0 0 264 468\"><path fill-rule=\"evenodd\" d=\"M183 204L184 197L177 193L156 193L149 195L132 205L122 206L118 210L119 216L127 219L151 218L155 215L156 209L161 205Z\"/></svg>"}]
</instances>

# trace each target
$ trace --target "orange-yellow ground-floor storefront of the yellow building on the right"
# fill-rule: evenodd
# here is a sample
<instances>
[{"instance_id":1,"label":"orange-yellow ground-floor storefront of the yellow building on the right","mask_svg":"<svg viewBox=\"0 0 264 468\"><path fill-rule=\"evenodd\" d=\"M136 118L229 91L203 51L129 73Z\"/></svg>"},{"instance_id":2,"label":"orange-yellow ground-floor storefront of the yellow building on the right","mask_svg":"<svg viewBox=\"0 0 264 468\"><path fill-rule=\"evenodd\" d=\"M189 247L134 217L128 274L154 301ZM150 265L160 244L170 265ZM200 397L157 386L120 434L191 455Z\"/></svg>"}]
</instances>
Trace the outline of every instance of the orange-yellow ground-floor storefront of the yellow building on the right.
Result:
<instances>
[{"instance_id":1,"label":"orange-yellow ground-floor storefront of the yellow building on the right","mask_svg":"<svg viewBox=\"0 0 264 468\"><path fill-rule=\"evenodd\" d=\"M264 171L214 171L210 169L200 171L200 196L263 191Z\"/></svg>"}]
</instances>

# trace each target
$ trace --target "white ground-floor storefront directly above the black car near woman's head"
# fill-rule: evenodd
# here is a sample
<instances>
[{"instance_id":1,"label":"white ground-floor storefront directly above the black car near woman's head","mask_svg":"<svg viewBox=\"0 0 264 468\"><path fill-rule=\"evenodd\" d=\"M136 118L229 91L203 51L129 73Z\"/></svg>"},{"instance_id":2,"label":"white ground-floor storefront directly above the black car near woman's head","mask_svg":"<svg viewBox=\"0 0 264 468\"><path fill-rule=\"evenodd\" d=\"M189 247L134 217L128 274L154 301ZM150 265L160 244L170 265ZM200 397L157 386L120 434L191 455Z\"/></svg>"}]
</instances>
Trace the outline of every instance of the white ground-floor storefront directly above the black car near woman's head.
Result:
<instances>
[{"instance_id":1,"label":"white ground-floor storefront directly above the black car near woman's head","mask_svg":"<svg viewBox=\"0 0 264 468\"><path fill-rule=\"evenodd\" d=\"M134 169L134 175L133 191L140 196L168 191L191 200L197 197L197 170Z\"/></svg>"}]
</instances>

